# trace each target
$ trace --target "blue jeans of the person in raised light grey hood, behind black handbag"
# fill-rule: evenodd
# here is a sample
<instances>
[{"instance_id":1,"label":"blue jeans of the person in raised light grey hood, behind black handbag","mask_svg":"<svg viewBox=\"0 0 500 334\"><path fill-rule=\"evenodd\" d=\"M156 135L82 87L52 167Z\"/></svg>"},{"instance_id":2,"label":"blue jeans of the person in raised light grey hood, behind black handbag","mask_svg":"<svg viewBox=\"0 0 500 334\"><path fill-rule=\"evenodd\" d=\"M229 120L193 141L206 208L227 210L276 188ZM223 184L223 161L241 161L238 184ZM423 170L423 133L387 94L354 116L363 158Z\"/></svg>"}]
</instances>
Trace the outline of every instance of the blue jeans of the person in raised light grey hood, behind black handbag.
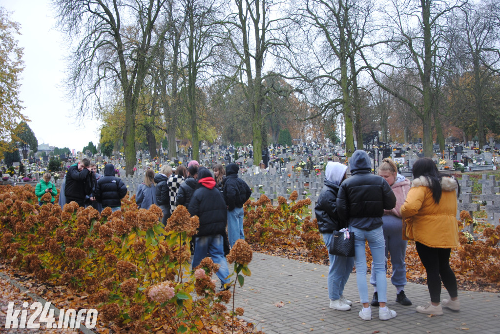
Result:
<instances>
[{"instance_id":1,"label":"blue jeans of the person in raised light grey hood, behind black handbag","mask_svg":"<svg viewBox=\"0 0 500 334\"><path fill-rule=\"evenodd\" d=\"M326 249L330 247L332 234L323 233L323 241ZM349 275L354 267L354 258L328 254L330 258L330 268L328 269L328 298L332 301L340 299L343 295L343 288L349 279Z\"/></svg>"}]
</instances>

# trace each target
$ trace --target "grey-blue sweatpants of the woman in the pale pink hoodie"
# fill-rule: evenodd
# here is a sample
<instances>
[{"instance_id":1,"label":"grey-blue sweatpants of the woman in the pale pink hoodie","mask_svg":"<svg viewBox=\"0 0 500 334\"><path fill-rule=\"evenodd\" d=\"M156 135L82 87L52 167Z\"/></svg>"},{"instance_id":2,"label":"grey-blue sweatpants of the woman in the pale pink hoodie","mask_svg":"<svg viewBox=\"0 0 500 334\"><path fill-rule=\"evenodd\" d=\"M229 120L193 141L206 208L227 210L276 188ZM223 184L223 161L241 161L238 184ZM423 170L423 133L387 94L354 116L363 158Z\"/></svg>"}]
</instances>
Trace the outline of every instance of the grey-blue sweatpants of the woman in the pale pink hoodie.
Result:
<instances>
[{"instance_id":1,"label":"grey-blue sweatpants of the woman in the pale pink hoodie","mask_svg":"<svg viewBox=\"0 0 500 334\"><path fill-rule=\"evenodd\" d=\"M390 263L392 264L392 276L390 281L396 288L404 288L406 285L406 245L408 242L402 238L403 225L401 218L392 215L382 217L383 238L385 239L385 257L390 253ZM385 262L385 273L387 273L387 262ZM376 285L375 271L371 264L370 284Z\"/></svg>"}]
</instances>

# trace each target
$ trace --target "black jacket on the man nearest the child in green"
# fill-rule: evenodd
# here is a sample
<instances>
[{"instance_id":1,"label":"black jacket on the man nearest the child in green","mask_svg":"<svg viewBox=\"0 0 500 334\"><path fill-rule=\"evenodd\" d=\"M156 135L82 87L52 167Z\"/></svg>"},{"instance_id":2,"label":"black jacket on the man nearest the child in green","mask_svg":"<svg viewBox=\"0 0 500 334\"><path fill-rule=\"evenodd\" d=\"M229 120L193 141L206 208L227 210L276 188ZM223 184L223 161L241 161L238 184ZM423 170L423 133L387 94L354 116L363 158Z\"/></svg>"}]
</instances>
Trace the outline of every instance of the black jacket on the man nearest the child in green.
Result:
<instances>
[{"instance_id":1,"label":"black jacket on the man nearest the child in green","mask_svg":"<svg viewBox=\"0 0 500 334\"><path fill-rule=\"evenodd\" d=\"M77 164L71 165L67 170L66 185L64 186L66 203L75 201L82 206L85 196L92 193L92 179L88 169L83 168L80 172Z\"/></svg>"}]
</instances>

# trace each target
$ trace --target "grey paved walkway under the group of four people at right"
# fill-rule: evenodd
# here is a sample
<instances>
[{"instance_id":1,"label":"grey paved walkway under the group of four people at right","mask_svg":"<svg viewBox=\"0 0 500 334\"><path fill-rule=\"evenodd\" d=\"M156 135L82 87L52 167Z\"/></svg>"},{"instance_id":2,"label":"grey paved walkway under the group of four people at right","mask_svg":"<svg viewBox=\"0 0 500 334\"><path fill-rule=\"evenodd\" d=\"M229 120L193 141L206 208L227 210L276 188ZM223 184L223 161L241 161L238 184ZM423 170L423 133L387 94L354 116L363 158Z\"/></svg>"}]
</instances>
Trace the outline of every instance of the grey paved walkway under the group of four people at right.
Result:
<instances>
[{"instance_id":1,"label":"grey paved walkway under the group of four people at right","mask_svg":"<svg viewBox=\"0 0 500 334\"><path fill-rule=\"evenodd\" d=\"M372 320L363 321L357 315L362 304L355 274L344 290L344 296L353 301L352 308L342 312L329 308L327 266L253 253L248 268L252 275L245 277L242 288L236 288L236 307L243 307L244 318L266 334L500 333L499 294L459 291L460 312L443 309L444 315L428 317L415 311L429 301L426 286L409 283L405 292L413 305L402 306L394 302L396 291L387 280L387 306L397 317L380 321L378 308L372 307ZM371 299L371 286L368 293ZM444 288L441 298L448 298Z\"/></svg>"}]
</instances>

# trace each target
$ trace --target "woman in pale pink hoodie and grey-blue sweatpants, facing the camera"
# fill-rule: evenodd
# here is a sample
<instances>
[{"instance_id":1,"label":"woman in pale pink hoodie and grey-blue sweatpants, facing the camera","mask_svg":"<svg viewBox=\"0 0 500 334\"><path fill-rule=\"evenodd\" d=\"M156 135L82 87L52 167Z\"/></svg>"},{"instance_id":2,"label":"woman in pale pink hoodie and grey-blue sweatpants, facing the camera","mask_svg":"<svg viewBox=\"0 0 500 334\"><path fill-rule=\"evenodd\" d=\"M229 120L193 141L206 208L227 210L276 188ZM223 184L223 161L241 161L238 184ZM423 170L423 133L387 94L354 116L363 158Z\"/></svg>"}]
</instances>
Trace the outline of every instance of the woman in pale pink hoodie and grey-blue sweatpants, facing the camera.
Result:
<instances>
[{"instance_id":1,"label":"woman in pale pink hoodie and grey-blue sweatpants, facing the camera","mask_svg":"<svg viewBox=\"0 0 500 334\"><path fill-rule=\"evenodd\" d=\"M392 210L384 210L382 216L382 230L385 239L385 258L390 253L390 263L392 265L392 275L390 281L396 287L396 303L409 306L411 301L404 294L406 286L406 256L407 241L402 238L402 221L399 209L406 199L409 191L410 182L404 176L397 173L397 166L392 159L385 158L378 167L378 175L383 177L389 184L396 196L396 206ZM385 263L385 272L387 272L387 263ZM376 288L375 271L371 270L370 284L374 288L371 306L378 306L378 293Z\"/></svg>"}]
</instances>

